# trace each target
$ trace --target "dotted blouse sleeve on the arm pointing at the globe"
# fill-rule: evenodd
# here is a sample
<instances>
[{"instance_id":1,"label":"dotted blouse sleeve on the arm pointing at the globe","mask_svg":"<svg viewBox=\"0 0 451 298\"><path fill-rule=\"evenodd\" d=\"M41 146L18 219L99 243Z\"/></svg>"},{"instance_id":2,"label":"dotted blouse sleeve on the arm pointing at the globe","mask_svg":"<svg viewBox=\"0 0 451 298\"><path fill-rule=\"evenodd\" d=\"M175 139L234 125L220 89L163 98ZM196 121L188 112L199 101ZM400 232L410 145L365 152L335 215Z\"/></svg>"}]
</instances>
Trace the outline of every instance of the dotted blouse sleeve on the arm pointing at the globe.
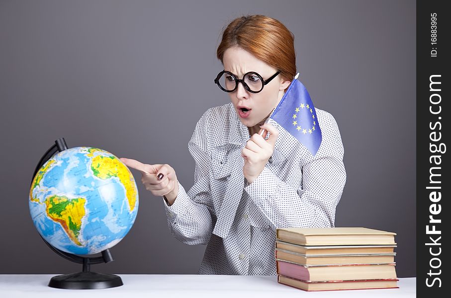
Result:
<instances>
[{"instance_id":1,"label":"dotted blouse sleeve on the arm pointing at the globe","mask_svg":"<svg viewBox=\"0 0 451 298\"><path fill-rule=\"evenodd\" d=\"M197 123L188 143L188 149L196 162L194 185L186 193L179 183L179 193L171 206L163 200L171 234L180 242L189 245L206 245L213 231L209 206L211 204L209 176L205 170L208 168L206 163L209 158L206 151L198 146L203 131L201 120Z\"/></svg>"}]
</instances>

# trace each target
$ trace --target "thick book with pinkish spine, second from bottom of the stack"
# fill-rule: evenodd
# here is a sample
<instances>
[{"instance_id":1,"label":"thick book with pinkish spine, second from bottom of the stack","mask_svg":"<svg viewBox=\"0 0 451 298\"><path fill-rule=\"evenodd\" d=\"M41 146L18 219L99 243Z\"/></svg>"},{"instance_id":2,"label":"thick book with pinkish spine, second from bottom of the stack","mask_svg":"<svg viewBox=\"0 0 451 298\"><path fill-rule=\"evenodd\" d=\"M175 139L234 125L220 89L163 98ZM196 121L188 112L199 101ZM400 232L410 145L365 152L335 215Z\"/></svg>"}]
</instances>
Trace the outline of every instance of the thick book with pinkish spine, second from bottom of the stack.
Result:
<instances>
[{"instance_id":1,"label":"thick book with pinkish spine, second from bottom of the stack","mask_svg":"<svg viewBox=\"0 0 451 298\"><path fill-rule=\"evenodd\" d=\"M277 274L308 282L396 278L395 264L305 266L276 260Z\"/></svg>"}]
</instances>

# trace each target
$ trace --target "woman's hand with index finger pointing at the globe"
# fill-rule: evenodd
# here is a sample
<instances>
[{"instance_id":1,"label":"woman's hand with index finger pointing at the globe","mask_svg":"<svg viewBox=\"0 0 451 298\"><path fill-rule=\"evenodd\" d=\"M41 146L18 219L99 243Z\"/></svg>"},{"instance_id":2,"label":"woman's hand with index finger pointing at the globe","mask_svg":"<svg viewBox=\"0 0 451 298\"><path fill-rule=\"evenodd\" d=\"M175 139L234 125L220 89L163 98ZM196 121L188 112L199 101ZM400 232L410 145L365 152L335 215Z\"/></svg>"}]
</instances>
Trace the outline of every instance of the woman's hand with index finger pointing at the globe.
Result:
<instances>
[{"instance_id":1,"label":"woman's hand with index finger pointing at the globe","mask_svg":"<svg viewBox=\"0 0 451 298\"><path fill-rule=\"evenodd\" d=\"M169 164L145 164L135 159L119 158L126 166L141 172L141 182L154 196L165 196L172 205L179 193L176 171Z\"/></svg>"}]
</instances>

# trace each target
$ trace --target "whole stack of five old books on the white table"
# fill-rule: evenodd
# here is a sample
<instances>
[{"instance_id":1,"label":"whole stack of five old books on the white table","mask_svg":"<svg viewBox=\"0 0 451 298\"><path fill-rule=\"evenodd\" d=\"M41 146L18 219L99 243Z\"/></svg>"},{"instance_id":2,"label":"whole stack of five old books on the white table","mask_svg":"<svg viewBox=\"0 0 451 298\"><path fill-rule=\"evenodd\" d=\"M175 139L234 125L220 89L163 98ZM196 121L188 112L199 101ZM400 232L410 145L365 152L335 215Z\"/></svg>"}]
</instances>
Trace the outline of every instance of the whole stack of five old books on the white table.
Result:
<instances>
[{"instance_id":1,"label":"whole stack of five old books on the white table","mask_svg":"<svg viewBox=\"0 0 451 298\"><path fill-rule=\"evenodd\" d=\"M394 235L364 227L278 228L277 282L305 291L398 288Z\"/></svg>"}]
</instances>

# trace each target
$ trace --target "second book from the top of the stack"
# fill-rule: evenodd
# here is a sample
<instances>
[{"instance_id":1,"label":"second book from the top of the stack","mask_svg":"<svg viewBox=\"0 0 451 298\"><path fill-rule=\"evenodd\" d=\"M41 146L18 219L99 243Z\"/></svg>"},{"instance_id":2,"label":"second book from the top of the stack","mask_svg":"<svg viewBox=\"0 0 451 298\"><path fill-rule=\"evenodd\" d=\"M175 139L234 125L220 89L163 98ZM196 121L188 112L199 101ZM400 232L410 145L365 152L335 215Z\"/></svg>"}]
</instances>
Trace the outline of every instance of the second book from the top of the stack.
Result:
<instances>
[{"instance_id":1,"label":"second book from the top of the stack","mask_svg":"<svg viewBox=\"0 0 451 298\"><path fill-rule=\"evenodd\" d=\"M396 245L326 245L326 246L305 246L275 241L275 248L297 252L304 255L346 255L346 254L373 254L373 253L394 253Z\"/></svg>"}]
</instances>

